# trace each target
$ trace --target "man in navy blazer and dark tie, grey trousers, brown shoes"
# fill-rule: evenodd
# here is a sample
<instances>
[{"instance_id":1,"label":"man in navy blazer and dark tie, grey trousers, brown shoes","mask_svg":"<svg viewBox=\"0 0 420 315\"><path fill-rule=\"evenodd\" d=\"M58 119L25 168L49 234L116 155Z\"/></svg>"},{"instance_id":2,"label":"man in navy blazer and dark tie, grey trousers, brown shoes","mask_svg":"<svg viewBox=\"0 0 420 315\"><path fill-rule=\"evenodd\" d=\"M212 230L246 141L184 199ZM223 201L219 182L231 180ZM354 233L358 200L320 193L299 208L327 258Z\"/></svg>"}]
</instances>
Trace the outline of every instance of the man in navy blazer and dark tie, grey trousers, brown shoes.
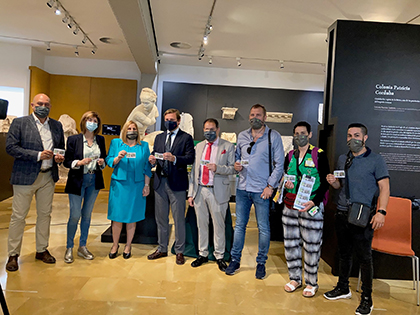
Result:
<instances>
[{"instance_id":1,"label":"man in navy blazer and dark tie, grey trousers, brown shoes","mask_svg":"<svg viewBox=\"0 0 420 315\"><path fill-rule=\"evenodd\" d=\"M153 152L149 157L152 165L157 163L155 189L155 217L158 226L158 249L148 259L168 256L169 206L175 223L176 263L185 263L185 204L188 190L187 165L195 158L194 141L179 129L181 115L177 109L168 109L165 114L166 132L155 139ZM155 154L158 158L156 158Z\"/></svg>"}]
</instances>

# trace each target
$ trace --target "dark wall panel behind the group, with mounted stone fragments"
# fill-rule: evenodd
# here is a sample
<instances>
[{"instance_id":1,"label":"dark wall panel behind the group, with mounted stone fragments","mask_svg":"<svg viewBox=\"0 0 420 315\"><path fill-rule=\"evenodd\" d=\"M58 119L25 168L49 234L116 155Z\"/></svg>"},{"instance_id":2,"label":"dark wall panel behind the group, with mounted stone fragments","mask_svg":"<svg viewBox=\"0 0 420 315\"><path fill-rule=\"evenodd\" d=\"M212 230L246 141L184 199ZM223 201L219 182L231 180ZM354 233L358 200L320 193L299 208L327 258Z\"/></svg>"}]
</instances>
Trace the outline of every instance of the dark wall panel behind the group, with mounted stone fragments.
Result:
<instances>
[{"instance_id":1,"label":"dark wall panel behind the group, with mounted stone fragments","mask_svg":"<svg viewBox=\"0 0 420 315\"><path fill-rule=\"evenodd\" d=\"M322 102L322 92L164 82L162 113L169 108L190 113L194 118L194 138L202 140L203 121L206 118L216 118L222 132L239 134L250 128L249 110L252 105L259 103L269 112L293 113L291 124L268 123L270 128L283 136L291 136L293 125L306 120L314 129L312 142L316 143L318 105ZM235 118L222 119L222 107L238 108ZM163 126L163 115L161 119Z\"/></svg>"}]
</instances>

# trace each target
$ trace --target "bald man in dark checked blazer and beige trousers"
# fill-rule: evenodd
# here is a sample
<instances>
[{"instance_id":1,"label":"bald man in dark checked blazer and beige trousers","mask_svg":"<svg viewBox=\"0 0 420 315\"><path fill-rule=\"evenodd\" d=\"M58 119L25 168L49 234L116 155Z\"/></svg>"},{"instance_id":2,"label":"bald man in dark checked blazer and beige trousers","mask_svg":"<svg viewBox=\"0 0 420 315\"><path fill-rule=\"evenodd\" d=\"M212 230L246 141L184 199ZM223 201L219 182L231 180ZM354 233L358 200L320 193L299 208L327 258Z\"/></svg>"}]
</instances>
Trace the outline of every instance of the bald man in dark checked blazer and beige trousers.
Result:
<instances>
[{"instance_id":1,"label":"bald man in dark checked blazer and beige trousers","mask_svg":"<svg viewBox=\"0 0 420 315\"><path fill-rule=\"evenodd\" d=\"M34 195L37 208L35 258L48 264L55 263L47 247L54 186L58 180L57 163L64 161L64 155L54 154L54 149L64 150L64 133L61 123L48 117L51 104L47 95L36 95L31 107L33 114L13 120L6 140L6 152L15 158L10 178L13 204L9 225L9 260L6 264L8 271L19 268L25 218Z\"/></svg>"}]
</instances>

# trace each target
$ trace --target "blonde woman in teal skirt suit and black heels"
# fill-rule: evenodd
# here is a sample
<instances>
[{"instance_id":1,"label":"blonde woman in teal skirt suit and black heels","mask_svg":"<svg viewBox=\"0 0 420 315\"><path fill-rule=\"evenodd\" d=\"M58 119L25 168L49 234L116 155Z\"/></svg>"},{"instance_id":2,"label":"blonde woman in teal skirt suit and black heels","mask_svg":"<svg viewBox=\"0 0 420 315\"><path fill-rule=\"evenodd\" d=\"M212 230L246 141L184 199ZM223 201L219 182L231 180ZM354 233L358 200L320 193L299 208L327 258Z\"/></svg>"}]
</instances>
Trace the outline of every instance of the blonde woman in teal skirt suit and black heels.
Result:
<instances>
[{"instance_id":1,"label":"blonde woman in teal skirt suit and black heels","mask_svg":"<svg viewBox=\"0 0 420 315\"><path fill-rule=\"evenodd\" d=\"M108 219L112 220L112 248L109 258L118 255L118 242L123 223L127 224L127 244L123 257L131 257L131 242L136 223L144 220L146 196L150 193L152 172L147 142L140 141L135 122L128 121L121 130L121 139L113 139L106 163L114 168L109 190Z\"/></svg>"}]
</instances>

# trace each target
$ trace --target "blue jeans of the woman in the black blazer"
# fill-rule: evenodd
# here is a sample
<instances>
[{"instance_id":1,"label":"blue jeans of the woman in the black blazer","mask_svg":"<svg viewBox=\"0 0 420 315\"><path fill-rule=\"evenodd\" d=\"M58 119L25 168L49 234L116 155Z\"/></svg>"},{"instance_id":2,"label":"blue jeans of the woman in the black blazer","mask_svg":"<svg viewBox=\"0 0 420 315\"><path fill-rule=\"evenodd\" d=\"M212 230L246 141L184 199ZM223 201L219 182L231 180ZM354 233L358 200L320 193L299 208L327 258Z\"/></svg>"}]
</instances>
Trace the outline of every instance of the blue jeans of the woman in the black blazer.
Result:
<instances>
[{"instance_id":1,"label":"blue jeans of the woman in the black blazer","mask_svg":"<svg viewBox=\"0 0 420 315\"><path fill-rule=\"evenodd\" d=\"M81 195L69 194L70 217L69 222L67 222L67 248L73 248L74 246L74 235L76 234L80 217L82 220L80 221L79 246L86 246L90 218L98 193L99 190L95 189L95 174L85 174L83 175Z\"/></svg>"}]
</instances>

